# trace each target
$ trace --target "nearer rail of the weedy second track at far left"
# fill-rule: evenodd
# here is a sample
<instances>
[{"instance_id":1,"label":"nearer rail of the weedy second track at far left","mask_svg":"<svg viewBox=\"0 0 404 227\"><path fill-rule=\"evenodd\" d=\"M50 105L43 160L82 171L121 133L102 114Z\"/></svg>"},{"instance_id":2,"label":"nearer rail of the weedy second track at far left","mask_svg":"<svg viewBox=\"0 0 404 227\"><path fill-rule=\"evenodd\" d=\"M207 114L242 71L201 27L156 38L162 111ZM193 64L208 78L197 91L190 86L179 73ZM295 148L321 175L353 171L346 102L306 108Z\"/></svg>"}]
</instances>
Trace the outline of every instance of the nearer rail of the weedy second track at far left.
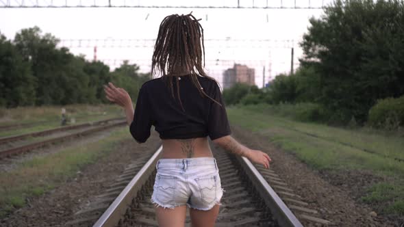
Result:
<instances>
[{"instance_id":1,"label":"nearer rail of the weedy second track at far left","mask_svg":"<svg viewBox=\"0 0 404 227\"><path fill-rule=\"evenodd\" d=\"M5 157L9 157L11 155L16 155L16 154L19 154L21 152L25 152L25 151L28 151L28 150L32 150L34 148L39 148L39 147L45 146L46 144L52 144L52 143L55 143L55 142L60 142L60 141L62 141L64 139L77 137L77 136L80 136L80 135L88 135L90 133L95 133L97 131L103 131L103 130L111 128L113 126L119 126L119 125L123 125L123 124L126 124L126 121L118 122L118 123L110 124L110 125L105 125L105 126L99 126L98 128L95 128L95 129L89 129L89 130L86 130L86 131L81 131L79 133L73 133L71 135L64 135L64 136L56 137L56 138L53 138L53 139L47 139L45 141L36 142L36 143L33 143L33 144L27 144L27 145L24 145L24 146L11 148L11 149L8 149L8 150L2 150L2 151L0 151L0 159L3 159Z\"/></svg>"}]
</instances>

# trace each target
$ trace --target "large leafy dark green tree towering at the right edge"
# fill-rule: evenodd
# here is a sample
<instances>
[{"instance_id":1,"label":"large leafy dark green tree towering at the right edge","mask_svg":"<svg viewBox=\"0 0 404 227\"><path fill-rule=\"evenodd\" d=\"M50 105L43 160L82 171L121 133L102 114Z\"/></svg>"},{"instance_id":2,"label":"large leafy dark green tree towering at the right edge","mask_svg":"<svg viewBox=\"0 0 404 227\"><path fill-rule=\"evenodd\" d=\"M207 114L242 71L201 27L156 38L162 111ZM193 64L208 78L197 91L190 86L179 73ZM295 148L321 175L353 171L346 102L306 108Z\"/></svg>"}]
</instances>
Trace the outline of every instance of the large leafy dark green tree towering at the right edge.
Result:
<instances>
[{"instance_id":1,"label":"large leafy dark green tree towering at the right edge","mask_svg":"<svg viewBox=\"0 0 404 227\"><path fill-rule=\"evenodd\" d=\"M336 1L310 24L300 62L318 73L334 120L364 122L377 99L404 94L402 1Z\"/></svg>"}]
</instances>

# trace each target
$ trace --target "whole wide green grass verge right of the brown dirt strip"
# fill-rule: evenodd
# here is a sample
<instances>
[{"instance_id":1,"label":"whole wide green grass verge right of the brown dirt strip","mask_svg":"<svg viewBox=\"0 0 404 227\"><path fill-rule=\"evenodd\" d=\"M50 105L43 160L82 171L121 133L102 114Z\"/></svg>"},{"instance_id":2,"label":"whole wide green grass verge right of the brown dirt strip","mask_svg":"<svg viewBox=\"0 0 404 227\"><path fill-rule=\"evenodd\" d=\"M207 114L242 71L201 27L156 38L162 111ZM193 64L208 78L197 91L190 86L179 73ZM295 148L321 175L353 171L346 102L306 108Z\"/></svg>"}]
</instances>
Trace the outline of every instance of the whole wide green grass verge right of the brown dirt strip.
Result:
<instances>
[{"instance_id":1,"label":"whole wide green grass verge right of the brown dirt strip","mask_svg":"<svg viewBox=\"0 0 404 227\"><path fill-rule=\"evenodd\" d=\"M232 107L227 113L232 123L266 135L311 168L367 170L390 179L368 188L362 201L377 206L382 213L404 215L404 162L396 160L404 159L403 137L296 122L251 107Z\"/></svg>"}]
</instances>

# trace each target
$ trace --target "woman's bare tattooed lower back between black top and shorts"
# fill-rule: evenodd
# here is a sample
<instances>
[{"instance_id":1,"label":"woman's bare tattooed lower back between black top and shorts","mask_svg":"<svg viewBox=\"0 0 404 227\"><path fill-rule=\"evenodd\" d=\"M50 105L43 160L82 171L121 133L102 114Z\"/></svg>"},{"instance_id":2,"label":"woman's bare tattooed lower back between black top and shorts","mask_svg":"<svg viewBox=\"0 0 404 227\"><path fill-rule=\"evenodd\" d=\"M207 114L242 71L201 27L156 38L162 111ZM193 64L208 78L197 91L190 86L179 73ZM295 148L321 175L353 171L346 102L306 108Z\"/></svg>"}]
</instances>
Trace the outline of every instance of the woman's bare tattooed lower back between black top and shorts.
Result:
<instances>
[{"instance_id":1,"label":"woman's bare tattooed lower back between black top and shorts","mask_svg":"<svg viewBox=\"0 0 404 227\"><path fill-rule=\"evenodd\" d=\"M207 137L163 139L163 159L213 157Z\"/></svg>"}]
</instances>

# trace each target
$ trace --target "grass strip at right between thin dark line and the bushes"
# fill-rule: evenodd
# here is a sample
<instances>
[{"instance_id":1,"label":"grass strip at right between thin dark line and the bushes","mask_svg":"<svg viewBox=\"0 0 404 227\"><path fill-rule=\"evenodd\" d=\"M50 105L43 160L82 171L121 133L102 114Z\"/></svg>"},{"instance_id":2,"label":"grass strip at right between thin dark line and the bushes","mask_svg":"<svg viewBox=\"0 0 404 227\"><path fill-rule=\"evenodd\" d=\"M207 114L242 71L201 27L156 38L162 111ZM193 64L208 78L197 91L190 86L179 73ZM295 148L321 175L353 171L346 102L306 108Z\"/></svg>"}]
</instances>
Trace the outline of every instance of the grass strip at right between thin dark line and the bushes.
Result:
<instances>
[{"instance_id":1,"label":"grass strip at right between thin dark line and the bushes","mask_svg":"<svg viewBox=\"0 0 404 227\"><path fill-rule=\"evenodd\" d=\"M367 150L368 152L375 152L381 157L389 157L392 159L404 160L404 139L400 135L375 131L369 128L362 129L342 129L333 126L326 126L324 124L297 122L290 118L283 118L273 114L270 105L256 105L247 107L233 107L232 111L250 114L262 113L259 118L266 126L278 127L288 131L296 131L311 135L310 137L319 137L323 140L337 142L352 146L353 148ZM286 111L286 110L284 110ZM240 124L240 122L238 122ZM246 126L251 130L259 130L257 127L264 127L264 125L257 125L251 122L246 123Z\"/></svg>"}]
</instances>

